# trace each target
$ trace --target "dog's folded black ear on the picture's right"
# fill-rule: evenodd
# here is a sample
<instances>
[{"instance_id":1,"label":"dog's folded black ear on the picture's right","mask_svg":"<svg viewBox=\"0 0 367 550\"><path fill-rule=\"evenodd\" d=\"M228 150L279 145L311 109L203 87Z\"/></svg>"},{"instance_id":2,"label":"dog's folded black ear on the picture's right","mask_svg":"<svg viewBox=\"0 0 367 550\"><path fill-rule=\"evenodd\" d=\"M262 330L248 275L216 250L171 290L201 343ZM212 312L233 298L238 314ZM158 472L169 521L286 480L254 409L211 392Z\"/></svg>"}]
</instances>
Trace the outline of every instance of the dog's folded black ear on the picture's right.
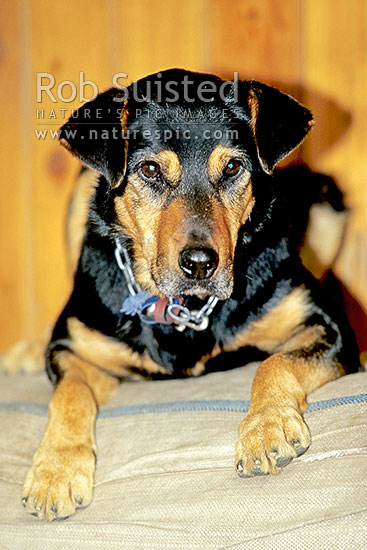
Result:
<instances>
[{"instance_id":1,"label":"dog's folded black ear on the picture's right","mask_svg":"<svg viewBox=\"0 0 367 550\"><path fill-rule=\"evenodd\" d=\"M311 129L312 114L276 88L256 81L244 85L257 155L263 170L271 174Z\"/></svg>"}]
</instances>

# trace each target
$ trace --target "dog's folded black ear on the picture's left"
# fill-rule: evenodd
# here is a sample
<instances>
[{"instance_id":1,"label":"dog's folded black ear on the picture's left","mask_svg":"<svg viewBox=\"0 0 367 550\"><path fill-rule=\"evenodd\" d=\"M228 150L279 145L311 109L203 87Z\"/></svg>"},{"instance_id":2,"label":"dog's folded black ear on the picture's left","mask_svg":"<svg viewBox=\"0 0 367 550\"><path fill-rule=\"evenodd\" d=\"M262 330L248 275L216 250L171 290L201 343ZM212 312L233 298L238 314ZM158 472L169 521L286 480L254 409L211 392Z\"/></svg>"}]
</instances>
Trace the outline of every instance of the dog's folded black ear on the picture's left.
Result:
<instances>
[{"instance_id":1,"label":"dog's folded black ear on the picture's left","mask_svg":"<svg viewBox=\"0 0 367 550\"><path fill-rule=\"evenodd\" d=\"M80 107L59 132L61 145L103 174L112 187L120 185L126 171L127 116L124 92L111 88Z\"/></svg>"}]
</instances>

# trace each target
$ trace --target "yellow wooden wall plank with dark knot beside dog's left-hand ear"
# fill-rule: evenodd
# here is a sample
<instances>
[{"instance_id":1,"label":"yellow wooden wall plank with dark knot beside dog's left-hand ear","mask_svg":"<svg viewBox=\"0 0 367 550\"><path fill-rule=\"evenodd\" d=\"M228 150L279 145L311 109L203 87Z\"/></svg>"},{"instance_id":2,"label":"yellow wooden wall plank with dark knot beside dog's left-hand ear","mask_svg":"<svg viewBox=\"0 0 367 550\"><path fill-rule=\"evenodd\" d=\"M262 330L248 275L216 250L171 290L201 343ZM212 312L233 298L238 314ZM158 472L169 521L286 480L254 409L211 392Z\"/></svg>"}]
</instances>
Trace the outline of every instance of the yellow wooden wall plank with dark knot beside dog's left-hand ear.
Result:
<instances>
[{"instance_id":1,"label":"yellow wooden wall plank with dark knot beside dog's left-hand ear","mask_svg":"<svg viewBox=\"0 0 367 550\"><path fill-rule=\"evenodd\" d=\"M79 94L65 102L72 92L65 85L57 93L57 85L65 80L79 88L80 71L85 79L94 80L100 90L111 85L108 56L108 2L82 0L52 3L51 13L45 3L33 0L30 10L32 28L32 100L33 129L56 131L71 109L82 103ZM46 93L37 103L35 79L38 72L51 73L56 80L52 90L56 103ZM92 95L86 89L85 95ZM44 109L45 118L37 119L37 109ZM48 118L54 109L56 118ZM63 115L62 109L66 109ZM53 321L70 290L65 259L64 219L73 180L79 163L64 151L50 135L32 139L32 223L34 227L34 332L42 331Z\"/></svg>"}]
</instances>

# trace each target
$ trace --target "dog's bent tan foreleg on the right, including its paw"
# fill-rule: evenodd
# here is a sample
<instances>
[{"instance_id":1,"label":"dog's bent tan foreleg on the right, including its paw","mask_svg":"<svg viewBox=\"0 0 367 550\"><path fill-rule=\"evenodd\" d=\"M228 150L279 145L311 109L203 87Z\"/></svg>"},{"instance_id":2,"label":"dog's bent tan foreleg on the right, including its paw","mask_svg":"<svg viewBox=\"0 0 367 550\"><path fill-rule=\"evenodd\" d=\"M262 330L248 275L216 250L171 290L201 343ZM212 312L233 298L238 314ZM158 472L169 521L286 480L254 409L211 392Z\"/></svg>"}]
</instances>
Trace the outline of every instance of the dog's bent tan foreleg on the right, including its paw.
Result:
<instances>
[{"instance_id":1,"label":"dog's bent tan foreleg on the right, including its paw","mask_svg":"<svg viewBox=\"0 0 367 550\"><path fill-rule=\"evenodd\" d=\"M249 410L239 426L236 468L241 477L277 474L308 449L311 437L302 413L310 392L340 376L333 360L334 346L335 342L327 343L321 337L307 347L275 353L261 363Z\"/></svg>"}]
</instances>

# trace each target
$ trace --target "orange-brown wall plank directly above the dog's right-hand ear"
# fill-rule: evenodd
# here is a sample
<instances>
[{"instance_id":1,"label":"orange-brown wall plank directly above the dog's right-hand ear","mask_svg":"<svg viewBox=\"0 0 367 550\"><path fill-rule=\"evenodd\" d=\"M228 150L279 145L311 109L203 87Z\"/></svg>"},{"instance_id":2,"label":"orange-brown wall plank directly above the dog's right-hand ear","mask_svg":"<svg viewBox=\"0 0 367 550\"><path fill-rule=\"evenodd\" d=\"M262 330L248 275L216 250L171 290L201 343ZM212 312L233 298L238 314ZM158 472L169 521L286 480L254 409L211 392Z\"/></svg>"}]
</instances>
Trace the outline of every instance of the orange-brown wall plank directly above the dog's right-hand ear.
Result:
<instances>
[{"instance_id":1,"label":"orange-brown wall plank directly above the dog's right-hand ear","mask_svg":"<svg viewBox=\"0 0 367 550\"><path fill-rule=\"evenodd\" d=\"M212 0L210 67L219 74L275 84L298 83L298 0Z\"/></svg>"}]
</instances>

